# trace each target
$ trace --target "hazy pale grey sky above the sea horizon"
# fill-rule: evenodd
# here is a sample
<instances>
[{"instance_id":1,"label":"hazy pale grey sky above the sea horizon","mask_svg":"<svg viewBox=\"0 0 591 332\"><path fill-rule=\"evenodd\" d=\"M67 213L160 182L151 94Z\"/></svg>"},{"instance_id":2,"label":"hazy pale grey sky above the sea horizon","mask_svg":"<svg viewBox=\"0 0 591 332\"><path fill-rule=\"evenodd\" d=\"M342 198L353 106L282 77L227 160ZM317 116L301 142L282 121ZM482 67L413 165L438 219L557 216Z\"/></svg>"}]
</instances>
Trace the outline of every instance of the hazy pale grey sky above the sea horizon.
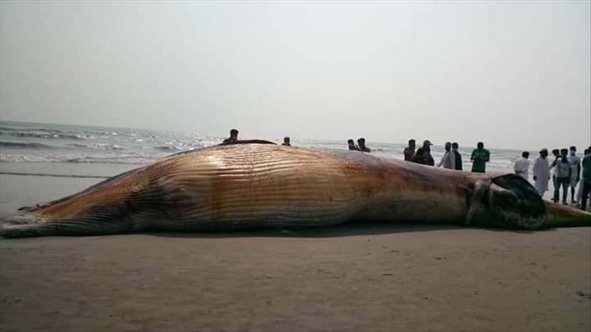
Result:
<instances>
[{"instance_id":1,"label":"hazy pale grey sky above the sea horizon","mask_svg":"<svg viewBox=\"0 0 591 332\"><path fill-rule=\"evenodd\" d=\"M0 119L591 143L590 1L1 1Z\"/></svg>"}]
</instances>

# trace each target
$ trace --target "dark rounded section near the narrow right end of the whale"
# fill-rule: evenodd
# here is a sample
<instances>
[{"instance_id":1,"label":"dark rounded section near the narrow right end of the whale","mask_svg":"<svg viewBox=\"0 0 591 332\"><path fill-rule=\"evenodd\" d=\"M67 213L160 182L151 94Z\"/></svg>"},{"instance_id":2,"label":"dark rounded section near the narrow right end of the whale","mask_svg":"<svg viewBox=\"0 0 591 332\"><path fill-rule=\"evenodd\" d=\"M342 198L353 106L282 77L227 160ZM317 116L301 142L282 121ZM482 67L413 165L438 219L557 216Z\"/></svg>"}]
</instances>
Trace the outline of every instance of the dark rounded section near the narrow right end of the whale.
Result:
<instances>
[{"instance_id":1,"label":"dark rounded section near the narrow right end of the whale","mask_svg":"<svg viewBox=\"0 0 591 332\"><path fill-rule=\"evenodd\" d=\"M527 180L516 174L475 183L467 225L536 230L544 224L546 206Z\"/></svg>"}]
</instances>

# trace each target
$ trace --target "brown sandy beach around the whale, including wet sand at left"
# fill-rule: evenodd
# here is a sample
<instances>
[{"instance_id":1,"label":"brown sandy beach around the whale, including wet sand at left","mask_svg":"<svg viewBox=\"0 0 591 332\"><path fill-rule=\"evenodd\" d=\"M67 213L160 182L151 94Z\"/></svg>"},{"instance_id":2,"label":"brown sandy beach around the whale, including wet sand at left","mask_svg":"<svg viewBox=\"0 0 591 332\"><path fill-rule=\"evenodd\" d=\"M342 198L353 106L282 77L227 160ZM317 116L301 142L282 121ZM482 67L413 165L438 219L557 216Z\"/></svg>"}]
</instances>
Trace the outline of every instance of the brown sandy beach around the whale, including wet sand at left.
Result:
<instances>
[{"instance_id":1,"label":"brown sandy beach around the whale, including wet sand at left","mask_svg":"<svg viewBox=\"0 0 591 332\"><path fill-rule=\"evenodd\" d=\"M2 174L0 210L99 181ZM0 239L1 331L590 329L589 227Z\"/></svg>"}]
</instances>

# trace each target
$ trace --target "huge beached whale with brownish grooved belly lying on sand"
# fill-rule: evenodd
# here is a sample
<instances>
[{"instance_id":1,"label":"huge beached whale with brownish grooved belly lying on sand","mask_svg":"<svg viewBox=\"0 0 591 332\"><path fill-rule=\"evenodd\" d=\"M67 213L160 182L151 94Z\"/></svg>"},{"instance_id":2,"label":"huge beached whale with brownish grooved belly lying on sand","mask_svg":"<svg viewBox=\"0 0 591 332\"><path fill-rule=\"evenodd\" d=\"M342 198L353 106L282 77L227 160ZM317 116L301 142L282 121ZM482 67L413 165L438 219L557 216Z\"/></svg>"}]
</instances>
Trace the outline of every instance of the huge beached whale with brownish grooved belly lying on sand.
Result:
<instances>
[{"instance_id":1,"label":"huge beached whale with brownish grooved belly lying on sand","mask_svg":"<svg viewBox=\"0 0 591 332\"><path fill-rule=\"evenodd\" d=\"M3 217L4 237L315 227L347 221L590 226L514 174L243 141L181 152Z\"/></svg>"}]
</instances>

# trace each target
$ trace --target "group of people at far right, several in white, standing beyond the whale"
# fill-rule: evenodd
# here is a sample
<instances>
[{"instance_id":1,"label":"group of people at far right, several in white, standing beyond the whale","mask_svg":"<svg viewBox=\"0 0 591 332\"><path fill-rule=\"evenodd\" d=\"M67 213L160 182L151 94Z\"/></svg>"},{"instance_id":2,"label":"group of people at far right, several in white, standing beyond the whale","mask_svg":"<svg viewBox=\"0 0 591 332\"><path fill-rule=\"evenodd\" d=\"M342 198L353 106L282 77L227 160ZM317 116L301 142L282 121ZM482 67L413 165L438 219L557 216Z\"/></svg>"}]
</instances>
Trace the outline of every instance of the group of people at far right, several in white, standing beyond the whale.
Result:
<instances>
[{"instance_id":1,"label":"group of people at far right, several in white, standing beyond the whale","mask_svg":"<svg viewBox=\"0 0 591 332\"><path fill-rule=\"evenodd\" d=\"M570 150L570 152L569 152ZM536 190L540 195L548 191L548 183L550 179L554 184L553 202L560 201L560 189L562 188L562 204L566 205L568 198L568 187L570 187L570 202L579 205L582 210L587 207L588 196L591 192L591 146L585 150L583 161L577 156L577 148L571 146L569 149L554 149L552 150L554 160L548 160L548 149L540 150L540 156L536 158L532 171L534 172L534 184ZM515 172L527 176L525 167L529 163L525 163L529 153L523 152L520 161L515 164ZM519 165L517 165L519 162ZM519 173L518 173L519 171ZM551 174L552 171L552 174ZM575 195L575 188L579 186L579 190Z\"/></svg>"}]
</instances>

